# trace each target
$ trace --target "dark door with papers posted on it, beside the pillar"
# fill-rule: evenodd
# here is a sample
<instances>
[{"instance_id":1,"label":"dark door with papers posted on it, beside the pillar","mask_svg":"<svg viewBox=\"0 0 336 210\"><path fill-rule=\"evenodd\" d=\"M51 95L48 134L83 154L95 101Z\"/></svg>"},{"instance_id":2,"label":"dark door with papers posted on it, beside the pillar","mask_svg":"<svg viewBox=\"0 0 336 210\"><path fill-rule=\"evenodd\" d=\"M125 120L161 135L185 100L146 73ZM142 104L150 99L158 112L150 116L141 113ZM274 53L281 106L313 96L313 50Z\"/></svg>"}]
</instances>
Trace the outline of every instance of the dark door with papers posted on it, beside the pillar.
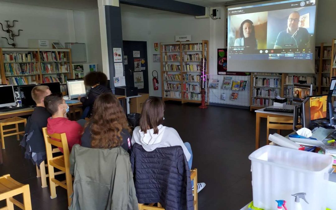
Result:
<instances>
[{"instance_id":1,"label":"dark door with papers posted on it, beside the pillar","mask_svg":"<svg viewBox=\"0 0 336 210\"><path fill-rule=\"evenodd\" d=\"M138 92L149 93L147 42L123 41L126 86L138 87ZM125 60L124 60L125 63Z\"/></svg>"}]
</instances>

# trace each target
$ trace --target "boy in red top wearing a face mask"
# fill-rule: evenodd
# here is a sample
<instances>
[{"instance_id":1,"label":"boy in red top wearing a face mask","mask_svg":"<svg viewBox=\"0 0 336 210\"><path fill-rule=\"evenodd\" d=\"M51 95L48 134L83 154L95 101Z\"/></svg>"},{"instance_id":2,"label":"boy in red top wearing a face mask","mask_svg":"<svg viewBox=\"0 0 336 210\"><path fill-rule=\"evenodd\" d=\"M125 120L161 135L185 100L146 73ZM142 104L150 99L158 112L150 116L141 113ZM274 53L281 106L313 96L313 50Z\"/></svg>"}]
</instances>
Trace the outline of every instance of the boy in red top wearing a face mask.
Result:
<instances>
[{"instance_id":1,"label":"boy in red top wearing a face mask","mask_svg":"<svg viewBox=\"0 0 336 210\"><path fill-rule=\"evenodd\" d=\"M66 104L61 93L53 93L44 98L44 106L51 117L48 118L47 132L65 133L68 140L69 151L75 144L81 144L81 134L83 127L76 121L71 121L66 118L69 112L69 105ZM61 148L59 148L61 152Z\"/></svg>"}]
</instances>

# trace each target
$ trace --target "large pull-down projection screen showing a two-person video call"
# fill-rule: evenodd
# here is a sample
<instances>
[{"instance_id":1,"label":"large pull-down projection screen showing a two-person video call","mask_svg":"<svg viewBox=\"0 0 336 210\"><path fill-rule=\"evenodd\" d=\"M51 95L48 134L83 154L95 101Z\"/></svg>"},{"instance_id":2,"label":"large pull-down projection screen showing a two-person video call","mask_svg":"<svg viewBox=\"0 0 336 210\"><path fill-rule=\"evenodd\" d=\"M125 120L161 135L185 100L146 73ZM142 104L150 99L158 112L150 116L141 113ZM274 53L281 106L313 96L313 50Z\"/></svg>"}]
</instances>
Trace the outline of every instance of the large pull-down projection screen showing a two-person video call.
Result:
<instances>
[{"instance_id":1,"label":"large pull-down projection screen showing a two-person video call","mask_svg":"<svg viewBox=\"0 0 336 210\"><path fill-rule=\"evenodd\" d=\"M270 0L227 8L227 71L315 73L318 0Z\"/></svg>"}]
</instances>

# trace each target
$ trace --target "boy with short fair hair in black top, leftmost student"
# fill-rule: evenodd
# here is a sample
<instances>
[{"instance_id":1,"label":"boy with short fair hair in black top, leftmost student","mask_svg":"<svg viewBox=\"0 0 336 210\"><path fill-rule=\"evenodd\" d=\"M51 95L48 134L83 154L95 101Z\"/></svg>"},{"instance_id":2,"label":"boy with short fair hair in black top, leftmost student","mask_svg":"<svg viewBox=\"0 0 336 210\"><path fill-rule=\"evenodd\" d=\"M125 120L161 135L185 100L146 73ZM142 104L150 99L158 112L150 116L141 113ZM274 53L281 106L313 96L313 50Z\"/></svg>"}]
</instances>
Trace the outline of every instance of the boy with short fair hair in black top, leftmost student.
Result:
<instances>
[{"instance_id":1,"label":"boy with short fair hair in black top, leftmost student","mask_svg":"<svg viewBox=\"0 0 336 210\"><path fill-rule=\"evenodd\" d=\"M48 86L38 85L32 89L32 98L36 107L27 120L25 136L20 142L25 149L25 158L31 159L34 164L40 165L46 159L45 142L42 128L47 126L47 120L51 114L44 107L44 98L50 95Z\"/></svg>"}]
</instances>

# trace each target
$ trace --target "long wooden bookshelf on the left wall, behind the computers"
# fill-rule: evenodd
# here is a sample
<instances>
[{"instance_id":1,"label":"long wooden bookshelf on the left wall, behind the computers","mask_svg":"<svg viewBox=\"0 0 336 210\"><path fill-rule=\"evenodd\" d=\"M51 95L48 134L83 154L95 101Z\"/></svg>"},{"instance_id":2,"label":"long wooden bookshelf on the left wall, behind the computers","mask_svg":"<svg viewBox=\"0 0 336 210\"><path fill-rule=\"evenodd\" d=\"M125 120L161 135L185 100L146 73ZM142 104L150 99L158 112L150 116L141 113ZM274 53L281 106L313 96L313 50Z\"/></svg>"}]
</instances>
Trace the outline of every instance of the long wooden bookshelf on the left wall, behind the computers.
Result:
<instances>
[{"instance_id":1,"label":"long wooden bookshelf on the left wall, behind the computers","mask_svg":"<svg viewBox=\"0 0 336 210\"><path fill-rule=\"evenodd\" d=\"M0 48L0 52L2 84L65 85L68 78L73 78L70 49Z\"/></svg>"}]
</instances>

